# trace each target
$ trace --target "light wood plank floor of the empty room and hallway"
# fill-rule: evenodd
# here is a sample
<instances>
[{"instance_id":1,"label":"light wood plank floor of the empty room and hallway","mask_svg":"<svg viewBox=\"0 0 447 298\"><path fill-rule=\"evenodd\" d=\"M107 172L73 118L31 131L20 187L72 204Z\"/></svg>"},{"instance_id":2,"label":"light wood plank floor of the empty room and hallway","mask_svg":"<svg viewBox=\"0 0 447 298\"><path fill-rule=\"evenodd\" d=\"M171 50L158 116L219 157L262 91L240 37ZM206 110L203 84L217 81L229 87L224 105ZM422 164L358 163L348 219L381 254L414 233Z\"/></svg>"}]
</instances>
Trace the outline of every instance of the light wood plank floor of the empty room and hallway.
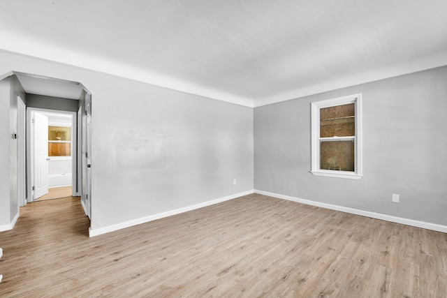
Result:
<instances>
[{"instance_id":1,"label":"light wood plank floor of the empty room and hallway","mask_svg":"<svg viewBox=\"0 0 447 298\"><path fill-rule=\"evenodd\" d=\"M446 297L447 234L263 195L88 238L78 198L0 232L0 297Z\"/></svg>"}]
</instances>

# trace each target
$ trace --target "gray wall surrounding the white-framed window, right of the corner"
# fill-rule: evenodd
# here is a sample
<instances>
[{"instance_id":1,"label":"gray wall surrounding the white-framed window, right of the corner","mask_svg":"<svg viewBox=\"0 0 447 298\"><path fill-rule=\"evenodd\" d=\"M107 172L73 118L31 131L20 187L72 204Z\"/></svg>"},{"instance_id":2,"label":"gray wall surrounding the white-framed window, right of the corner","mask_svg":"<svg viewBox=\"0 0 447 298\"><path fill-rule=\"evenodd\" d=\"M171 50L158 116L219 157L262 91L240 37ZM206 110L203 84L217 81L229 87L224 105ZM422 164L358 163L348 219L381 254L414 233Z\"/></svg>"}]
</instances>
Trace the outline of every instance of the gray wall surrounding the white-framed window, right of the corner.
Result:
<instances>
[{"instance_id":1,"label":"gray wall surrounding the white-framed window, right of the corner","mask_svg":"<svg viewBox=\"0 0 447 298\"><path fill-rule=\"evenodd\" d=\"M357 93L364 177L312 175L310 103ZM446 112L447 67L257 107L254 188L447 225Z\"/></svg>"}]
</instances>

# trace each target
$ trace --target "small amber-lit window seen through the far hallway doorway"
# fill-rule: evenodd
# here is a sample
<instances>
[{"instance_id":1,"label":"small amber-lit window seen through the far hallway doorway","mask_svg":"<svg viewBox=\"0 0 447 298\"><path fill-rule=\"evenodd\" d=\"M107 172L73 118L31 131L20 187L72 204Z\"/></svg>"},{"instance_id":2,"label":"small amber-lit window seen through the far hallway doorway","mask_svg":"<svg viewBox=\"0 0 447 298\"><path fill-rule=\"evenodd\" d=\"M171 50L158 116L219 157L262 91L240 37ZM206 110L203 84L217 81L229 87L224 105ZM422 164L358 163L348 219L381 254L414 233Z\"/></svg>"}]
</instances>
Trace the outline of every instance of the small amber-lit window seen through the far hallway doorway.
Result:
<instances>
[{"instance_id":1,"label":"small amber-lit window seen through the far hallway doorway","mask_svg":"<svg viewBox=\"0 0 447 298\"><path fill-rule=\"evenodd\" d=\"M48 156L71 156L71 127L48 126Z\"/></svg>"}]
</instances>

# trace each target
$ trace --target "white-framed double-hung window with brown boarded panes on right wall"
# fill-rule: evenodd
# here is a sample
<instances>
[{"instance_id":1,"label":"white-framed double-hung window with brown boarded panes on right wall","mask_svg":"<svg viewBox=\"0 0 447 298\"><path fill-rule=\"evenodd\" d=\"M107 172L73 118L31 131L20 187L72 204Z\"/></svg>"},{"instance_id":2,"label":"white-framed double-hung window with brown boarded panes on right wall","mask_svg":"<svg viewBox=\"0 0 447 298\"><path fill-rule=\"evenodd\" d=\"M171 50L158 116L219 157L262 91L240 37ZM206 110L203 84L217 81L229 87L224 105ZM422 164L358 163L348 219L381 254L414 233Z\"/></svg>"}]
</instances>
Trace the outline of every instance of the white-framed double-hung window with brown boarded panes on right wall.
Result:
<instances>
[{"instance_id":1,"label":"white-framed double-hung window with brown boarded panes on right wall","mask_svg":"<svg viewBox=\"0 0 447 298\"><path fill-rule=\"evenodd\" d=\"M354 94L312 103L312 174L362 177L361 98Z\"/></svg>"}]
</instances>

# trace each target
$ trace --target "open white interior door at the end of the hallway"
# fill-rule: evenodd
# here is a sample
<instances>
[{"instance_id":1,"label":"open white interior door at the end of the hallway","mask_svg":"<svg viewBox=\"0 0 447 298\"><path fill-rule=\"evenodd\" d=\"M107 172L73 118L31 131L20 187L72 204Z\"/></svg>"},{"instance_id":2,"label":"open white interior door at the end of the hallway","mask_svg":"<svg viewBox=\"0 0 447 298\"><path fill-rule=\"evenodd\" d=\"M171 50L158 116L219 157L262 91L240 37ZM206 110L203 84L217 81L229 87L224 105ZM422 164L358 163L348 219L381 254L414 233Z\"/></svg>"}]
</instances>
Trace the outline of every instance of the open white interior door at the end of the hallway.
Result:
<instances>
[{"instance_id":1,"label":"open white interior door at the end of the hallway","mask_svg":"<svg viewBox=\"0 0 447 298\"><path fill-rule=\"evenodd\" d=\"M48 193L48 117L34 112L34 200Z\"/></svg>"}]
</instances>

